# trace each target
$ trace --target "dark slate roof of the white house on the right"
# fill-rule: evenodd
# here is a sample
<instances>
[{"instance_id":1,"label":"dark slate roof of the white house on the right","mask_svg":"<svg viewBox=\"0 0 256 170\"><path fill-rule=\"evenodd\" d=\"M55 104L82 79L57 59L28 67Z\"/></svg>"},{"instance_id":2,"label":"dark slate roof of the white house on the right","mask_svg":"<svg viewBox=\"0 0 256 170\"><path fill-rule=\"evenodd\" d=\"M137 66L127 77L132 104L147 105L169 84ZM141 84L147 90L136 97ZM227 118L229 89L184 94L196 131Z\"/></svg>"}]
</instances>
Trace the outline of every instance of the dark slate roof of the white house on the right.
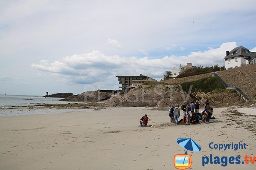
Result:
<instances>
[{"instance_id":1,"label":"dark slate roof of the white house on the right","mask_svg":"<svg viewBox=\"0 0 256 170\"><path fill-rule=\"evenodd\" d=\"M247 48L240 46L236 47L229 52L229 54L224 57L224 59L229 59L232 57L243 56L244 59L251 61L254 57L256 57L256 52L250 52Z\"/></svg>"}]
</instances>

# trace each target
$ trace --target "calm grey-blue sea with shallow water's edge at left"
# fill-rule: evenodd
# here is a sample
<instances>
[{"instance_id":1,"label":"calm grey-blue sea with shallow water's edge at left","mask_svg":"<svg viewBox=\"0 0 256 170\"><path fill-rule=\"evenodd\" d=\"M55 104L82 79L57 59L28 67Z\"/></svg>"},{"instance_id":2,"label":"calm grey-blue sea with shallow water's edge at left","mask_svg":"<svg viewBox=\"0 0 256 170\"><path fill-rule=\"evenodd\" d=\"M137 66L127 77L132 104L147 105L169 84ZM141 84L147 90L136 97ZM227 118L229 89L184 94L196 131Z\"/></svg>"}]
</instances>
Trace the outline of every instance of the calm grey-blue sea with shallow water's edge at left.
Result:
<instances>
[{"instance_id":1,"label":"calm grey-blue sea with shallow water's edge at left","mask_svg":"<svg viewBox=\"0 0 256 170\"><path fill-rule=\"evenodd\" d=\"M79 111L88 111L88 109L17 109L21 106L35 106L38 104L68 104L83 102L59 101L62 98L42 97L42 96L22 96L22 95L0 95L0 116L17 116L32 114L50 114L50 113L73 113Z\"/></svg>"}]
</instances>

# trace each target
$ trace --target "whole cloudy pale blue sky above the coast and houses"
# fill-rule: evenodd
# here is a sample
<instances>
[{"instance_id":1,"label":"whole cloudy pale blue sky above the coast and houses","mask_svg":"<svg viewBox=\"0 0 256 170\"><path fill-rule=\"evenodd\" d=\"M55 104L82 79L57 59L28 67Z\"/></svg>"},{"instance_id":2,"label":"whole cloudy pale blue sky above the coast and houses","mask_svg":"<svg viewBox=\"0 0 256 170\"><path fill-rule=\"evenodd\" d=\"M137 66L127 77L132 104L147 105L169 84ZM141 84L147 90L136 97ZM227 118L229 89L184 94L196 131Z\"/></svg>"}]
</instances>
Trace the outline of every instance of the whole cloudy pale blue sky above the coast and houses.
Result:
<instances>
[{"instance_id":1,"label":"whole cloudy pale blue sky above the coast and houses","mask_svg":"<svg viewBox=\"0 0 256 170\"><path fill-rule=\"evenodd\" d=\"M0 94L118 90L256 51L255 0L0 0Z\"/></svg>"}]
</instances>

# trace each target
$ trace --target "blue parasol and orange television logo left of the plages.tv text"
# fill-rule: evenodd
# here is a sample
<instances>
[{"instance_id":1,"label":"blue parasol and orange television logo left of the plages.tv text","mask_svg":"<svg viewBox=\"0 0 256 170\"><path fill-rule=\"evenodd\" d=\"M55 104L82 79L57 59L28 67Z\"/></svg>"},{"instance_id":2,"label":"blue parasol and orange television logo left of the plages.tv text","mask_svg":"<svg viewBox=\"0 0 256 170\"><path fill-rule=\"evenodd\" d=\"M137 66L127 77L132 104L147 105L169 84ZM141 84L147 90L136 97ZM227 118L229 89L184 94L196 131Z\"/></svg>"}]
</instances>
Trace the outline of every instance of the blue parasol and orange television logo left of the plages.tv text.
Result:
<instances>
[{"instance_id":1,"label":"blue parasol and orange television logo left of the plages.tv text","mask_svg":"<svg viewBox=\"0 0 256 170\"><path fill-rule=\"evenodd\" d=\"M174 156L174 166L179 170L188 169L192 164L191 156L187 154L188 150L198 152L202 147L191 138L179 138L177 139L177 143L186 150L184 150L184 154L176 154Z\"/></svg>"}]
</instances>

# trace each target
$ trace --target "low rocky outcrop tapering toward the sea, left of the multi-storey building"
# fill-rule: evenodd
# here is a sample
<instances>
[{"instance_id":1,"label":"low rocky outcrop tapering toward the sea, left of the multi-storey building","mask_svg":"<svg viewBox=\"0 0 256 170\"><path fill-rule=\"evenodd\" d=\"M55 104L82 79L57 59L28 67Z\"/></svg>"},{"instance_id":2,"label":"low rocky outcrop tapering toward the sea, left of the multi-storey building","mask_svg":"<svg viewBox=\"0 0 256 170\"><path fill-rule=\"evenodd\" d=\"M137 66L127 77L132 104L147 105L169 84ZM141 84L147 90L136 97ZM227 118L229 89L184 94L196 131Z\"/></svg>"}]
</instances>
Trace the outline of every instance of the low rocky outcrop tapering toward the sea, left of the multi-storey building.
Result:
<instances>
[{"instance_id":1,"label":"low rocky outcrop tapering toward the sea, left of the multi-storey building","mask_svg":"<svg viewBox=\"0 0 256 170\"><path fill-rule=\"evenodd\" d=\"M65 99L61 99L61 101L100 102L100 101L109 99L112 94L116 94L116 91L108 91L108 90L86 91L79 95L73 95Z\"/></svg>"}]
</instances>

